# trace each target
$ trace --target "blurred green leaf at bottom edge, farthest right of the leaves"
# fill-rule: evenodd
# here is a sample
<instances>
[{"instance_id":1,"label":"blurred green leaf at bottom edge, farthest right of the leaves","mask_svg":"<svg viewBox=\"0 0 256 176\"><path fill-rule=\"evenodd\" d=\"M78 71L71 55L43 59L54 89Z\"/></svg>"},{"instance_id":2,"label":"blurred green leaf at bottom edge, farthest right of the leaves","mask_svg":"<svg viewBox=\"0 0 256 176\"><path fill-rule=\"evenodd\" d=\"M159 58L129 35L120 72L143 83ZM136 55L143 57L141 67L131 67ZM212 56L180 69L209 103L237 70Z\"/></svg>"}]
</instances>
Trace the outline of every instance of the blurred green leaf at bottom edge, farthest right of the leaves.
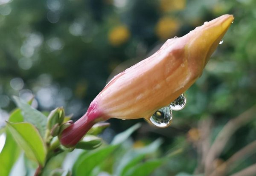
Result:
<instances>
[{"instance_id":1,"label":"blurred green leaf at bottom edge, farthest right of the leaves","mask_svg":"<svg viewBox=\"0 0 256 176\"><path fill-rule=\"evenodd\" d=\"M163 162L164 160L161 159L146 161L142 164L138 164L135 167L132 167L130 170L128 170L127 173L125 173L125 176L148 176Z\"/></svg>"}]
</instances>

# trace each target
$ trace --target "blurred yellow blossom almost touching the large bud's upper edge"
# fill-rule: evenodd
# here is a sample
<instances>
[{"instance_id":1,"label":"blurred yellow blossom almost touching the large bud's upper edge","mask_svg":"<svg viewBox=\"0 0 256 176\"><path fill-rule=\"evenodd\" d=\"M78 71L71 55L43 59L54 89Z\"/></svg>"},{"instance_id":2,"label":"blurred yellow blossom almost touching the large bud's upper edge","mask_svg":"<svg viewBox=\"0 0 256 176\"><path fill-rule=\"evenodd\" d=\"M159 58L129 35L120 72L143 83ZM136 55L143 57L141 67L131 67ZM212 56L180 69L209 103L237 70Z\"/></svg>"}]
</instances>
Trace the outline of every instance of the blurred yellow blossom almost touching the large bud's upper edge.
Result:
<instances>
[{"instance_id":1,"label":"blurred yellow blossom almost touching the large bud's upper edge","mask_svg":"<svg viewBox=\"0 0 256 176\"><path fill-rule=\"evenodd\" d=\"M177 20L170 17L162 17L157 22L156 33L160 39L165 40L173 37L179 28L180 24Z\"/></svg>"}]
</instances>

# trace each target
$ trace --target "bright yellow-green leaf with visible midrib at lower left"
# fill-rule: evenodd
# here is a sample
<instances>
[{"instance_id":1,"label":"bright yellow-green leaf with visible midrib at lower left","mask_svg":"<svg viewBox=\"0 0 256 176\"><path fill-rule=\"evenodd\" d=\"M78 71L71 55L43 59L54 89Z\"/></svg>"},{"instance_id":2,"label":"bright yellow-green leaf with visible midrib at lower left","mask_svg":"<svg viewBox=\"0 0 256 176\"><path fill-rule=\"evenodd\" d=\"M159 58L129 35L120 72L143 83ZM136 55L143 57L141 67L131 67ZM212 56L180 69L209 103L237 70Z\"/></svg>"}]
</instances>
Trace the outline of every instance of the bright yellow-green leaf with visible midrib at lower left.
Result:
<instances>
[{"instance_id":1,"label":"bright yellow-green leaf with visible midrib at lower left","mask_svg":"<svg viewBox=\"0 0 256 176\"><path fill-rule=\"evenodd\" d=\"M32 124L27 122L6 123L6 126L12 133L13 138L24 150L26 156L43 166L47 149L43 139L38 133L38 130Z\"/></svg>"}]
</instances>

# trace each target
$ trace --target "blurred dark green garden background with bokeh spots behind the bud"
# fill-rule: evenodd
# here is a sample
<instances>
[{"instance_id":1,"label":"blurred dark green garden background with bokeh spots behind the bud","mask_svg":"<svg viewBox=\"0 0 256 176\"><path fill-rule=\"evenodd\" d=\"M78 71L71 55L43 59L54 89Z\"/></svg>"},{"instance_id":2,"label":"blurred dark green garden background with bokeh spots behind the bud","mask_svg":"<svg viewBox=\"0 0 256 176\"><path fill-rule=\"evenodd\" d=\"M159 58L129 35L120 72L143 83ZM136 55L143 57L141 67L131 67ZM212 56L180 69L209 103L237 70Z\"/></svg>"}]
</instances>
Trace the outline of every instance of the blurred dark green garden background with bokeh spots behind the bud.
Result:
<instances>
[{"instance_id":1,"label":"blurred dark green garden background with bokeh spots behind the bud","mask_svg":"<svg viewBox=\"0 0 256 176\"><path fill-rule=\"evenodd\" d=\"M103 136L110 141L141 121L135 146L161 137L162 152L184 149L182 157L170 160L156 175L202 173L209 169L205 155L212 141L240 117L228 130L227 144L215 144L224 146L209 159L211 167L224 165L256 140L254 0L0 0L0 126L15 108L13 95L24 100L34 95L32 105L41 111L64 107L74 119L81 117L114 75L147 58L168 38L181 37L222 14L233 14L234 23L201 78L186 92L186 107L173 113L171 127L111 119ZM230 173L256 163L256 155L249 154L237 159L242 162Z\"/></svg>"}]
</instances>

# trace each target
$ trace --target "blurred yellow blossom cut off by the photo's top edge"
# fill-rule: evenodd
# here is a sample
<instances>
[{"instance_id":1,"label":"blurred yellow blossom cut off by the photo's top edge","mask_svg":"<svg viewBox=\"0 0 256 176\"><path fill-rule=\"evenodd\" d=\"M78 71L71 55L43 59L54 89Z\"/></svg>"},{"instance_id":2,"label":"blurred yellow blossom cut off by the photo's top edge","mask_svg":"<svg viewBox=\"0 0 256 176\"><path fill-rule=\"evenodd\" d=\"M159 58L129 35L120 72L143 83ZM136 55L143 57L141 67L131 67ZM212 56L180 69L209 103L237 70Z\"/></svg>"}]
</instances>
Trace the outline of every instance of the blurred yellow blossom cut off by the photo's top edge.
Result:
<instances>
[{"instance_id":1,"label":"blurred yellow blossom cut off by the photo's top edge","mask_svg":"<svg viewBox=\"0 0 256 176\"><path fill-rule=\"evenodd\" d=\"M160 8L163 12L172 10L183 10L186 6L186 0L161 0Z\"/></svg>"}]
</instances>

